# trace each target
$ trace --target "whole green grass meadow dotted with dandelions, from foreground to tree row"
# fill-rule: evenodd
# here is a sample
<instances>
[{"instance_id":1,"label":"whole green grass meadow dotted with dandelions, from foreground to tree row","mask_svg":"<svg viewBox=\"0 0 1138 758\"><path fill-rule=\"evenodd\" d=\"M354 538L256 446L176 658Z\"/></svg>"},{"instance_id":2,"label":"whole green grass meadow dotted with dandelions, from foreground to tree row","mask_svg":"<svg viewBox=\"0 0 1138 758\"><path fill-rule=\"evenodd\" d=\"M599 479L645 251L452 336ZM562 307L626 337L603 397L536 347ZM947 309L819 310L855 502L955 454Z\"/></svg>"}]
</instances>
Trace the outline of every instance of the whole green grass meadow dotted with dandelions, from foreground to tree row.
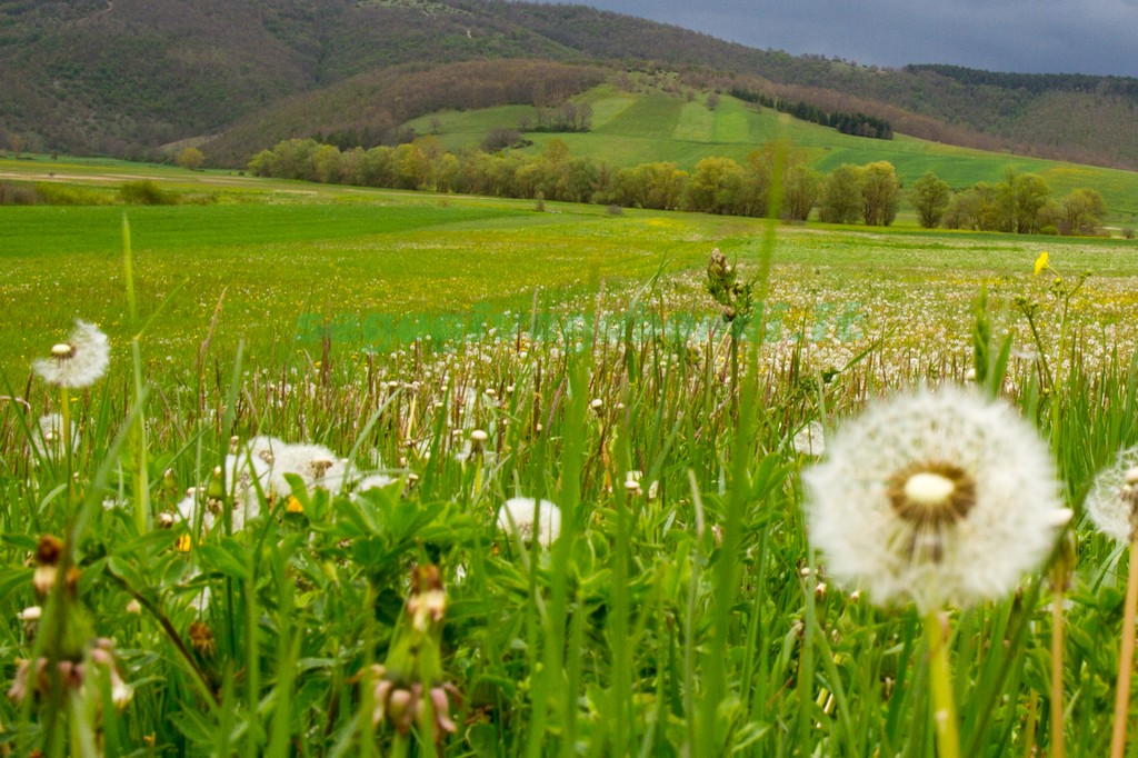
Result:
<instances>
[{"instance_id":1,"label":"whole green grass meadow dotted with dandelions, from foreground to tree row","mask_svg":"<svg viewBox=\"0 0 1138 758\"><path fill-rule=\"evenodd\" d=\"M1106 755L1127 571L1082 499L1138 442L1132 242L141 171L213 203L0 207L0 670L105 636L131 687L28 685L0 702L14 753L938 755L921 618L827 576L793 439L979 369L1049 443L1078 561L1059 621L1050 565L950 610L962 755ZM715 247L766 300L737 378ZM391 341L378 315L446 326ZM61 394L30 365L75 318L112 364ZM74 452L36 452L63 404ZM257 435L390 480L262 483L240 529L215 483L216 524L185 516ZM498 526L519 495L560 505L559 539ZM74 590L33 591L44 534Z\"/></svg>"}]
</instances>

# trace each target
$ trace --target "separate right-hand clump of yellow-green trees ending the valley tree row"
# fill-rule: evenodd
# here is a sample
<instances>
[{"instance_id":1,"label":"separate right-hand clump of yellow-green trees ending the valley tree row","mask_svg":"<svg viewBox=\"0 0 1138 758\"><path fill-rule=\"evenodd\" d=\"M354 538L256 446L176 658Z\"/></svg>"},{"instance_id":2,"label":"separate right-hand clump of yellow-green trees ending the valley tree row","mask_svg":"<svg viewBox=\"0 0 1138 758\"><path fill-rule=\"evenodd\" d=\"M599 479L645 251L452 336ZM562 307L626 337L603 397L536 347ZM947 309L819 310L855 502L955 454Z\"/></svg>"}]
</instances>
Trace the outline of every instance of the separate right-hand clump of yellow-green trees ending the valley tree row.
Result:
<instances>
[{"instance_id":1,"label":"separate right-hand clump of yellow-green trees ending the valley tree row","mask_svg":"<svg viewBox=\"0 0 1138 758\"><path fill-rule=\"evenodd\" d=\"M1094 236L1102 233L1106 213L1098 190L1083 187L1055 198L1042 176L1015 168L999 182L979 182L955 192L929 172L913 184L909 200L925 229Z\"/></svg>"}]
</instances>

